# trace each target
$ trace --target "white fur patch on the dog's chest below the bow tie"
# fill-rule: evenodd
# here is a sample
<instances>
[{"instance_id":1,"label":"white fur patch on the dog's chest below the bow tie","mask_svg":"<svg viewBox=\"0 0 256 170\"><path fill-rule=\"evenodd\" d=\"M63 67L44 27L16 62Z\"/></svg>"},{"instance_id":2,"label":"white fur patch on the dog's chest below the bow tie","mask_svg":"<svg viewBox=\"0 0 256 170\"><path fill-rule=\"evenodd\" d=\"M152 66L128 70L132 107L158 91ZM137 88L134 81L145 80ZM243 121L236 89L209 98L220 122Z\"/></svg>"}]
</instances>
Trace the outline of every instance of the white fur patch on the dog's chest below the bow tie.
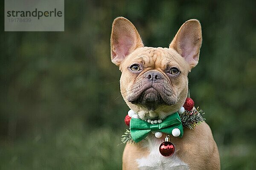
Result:
<instances>
[{"instance_id":1,"label":"white fur patch on the dog's chest below the bow tie","mask_svg":"<svg viewBox=\"0 0 256 170\"><path fill-rule=\"evenodd\" d=\"M188 164L181 161L175 153L169 157L160 154L159 146L163 142L162 139L149 135L146 140L145 147L150 153L136 160L140 170L189 170Z\"/></svg>"}]
</instances>

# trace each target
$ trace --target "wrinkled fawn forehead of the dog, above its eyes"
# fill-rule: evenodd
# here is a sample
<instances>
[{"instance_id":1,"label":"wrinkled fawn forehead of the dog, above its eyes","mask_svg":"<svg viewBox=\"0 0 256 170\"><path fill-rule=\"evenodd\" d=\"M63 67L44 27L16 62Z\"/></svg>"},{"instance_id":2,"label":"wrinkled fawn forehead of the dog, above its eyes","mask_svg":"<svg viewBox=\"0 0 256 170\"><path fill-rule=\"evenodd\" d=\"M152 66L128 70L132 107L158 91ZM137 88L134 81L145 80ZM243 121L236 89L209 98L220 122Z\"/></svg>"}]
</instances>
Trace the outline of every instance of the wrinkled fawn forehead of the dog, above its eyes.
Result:
<instances>
[{"instance_id":1,"label":"wrinkled fawn forehead of the dog, above its eyes","mask_svg":"<svg viewBox=\"0 0 256 170\"><path fill-rule=\"evenodd\" d=\"M126 66L134 63L142 64L145 68L157 67L164 70L170 65L184 65L185 60L172 48L143 47L137 48L125 61Z\"/></svg>"}]
</instances>

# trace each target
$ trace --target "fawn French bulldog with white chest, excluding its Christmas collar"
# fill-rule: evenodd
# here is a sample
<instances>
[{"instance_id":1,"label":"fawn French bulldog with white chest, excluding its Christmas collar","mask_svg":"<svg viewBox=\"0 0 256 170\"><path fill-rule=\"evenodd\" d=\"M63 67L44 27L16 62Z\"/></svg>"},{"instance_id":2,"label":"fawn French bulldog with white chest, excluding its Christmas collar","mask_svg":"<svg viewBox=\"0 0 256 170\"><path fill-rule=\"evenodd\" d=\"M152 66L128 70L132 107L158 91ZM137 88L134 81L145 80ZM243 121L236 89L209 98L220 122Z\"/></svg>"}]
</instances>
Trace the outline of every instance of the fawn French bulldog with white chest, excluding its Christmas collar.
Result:
<instances>
[{"instance_id":1,"label":"fawn French bulldog with white chest, excluding its Christmas collar","mask_svg":"<svg viewBox=\"0 0 256 170\"><path fill-rule=\"evenodd\" d=\"M169 48L144 47L134 25L124 17L113 21L111 60L122 72L122 96L139 119L165 119L183 106L188 94L188 73L198 64L202 43L198 20L186 21ZM207 123L184 128L182 138L171 136L175 153L164 157L159 145L164 136L148 135L123 152L123 170L219 170L217 145Z\"/></svg>"}]
</instances>

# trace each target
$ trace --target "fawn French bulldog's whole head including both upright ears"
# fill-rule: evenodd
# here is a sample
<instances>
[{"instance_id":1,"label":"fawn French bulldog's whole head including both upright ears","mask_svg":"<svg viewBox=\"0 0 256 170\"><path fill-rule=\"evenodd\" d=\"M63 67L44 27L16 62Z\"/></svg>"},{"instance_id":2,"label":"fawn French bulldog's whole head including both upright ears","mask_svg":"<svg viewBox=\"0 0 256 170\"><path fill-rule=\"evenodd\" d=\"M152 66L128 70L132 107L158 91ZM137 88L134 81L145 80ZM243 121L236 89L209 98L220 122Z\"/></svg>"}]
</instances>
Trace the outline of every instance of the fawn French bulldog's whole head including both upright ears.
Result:
<instances>
[{"instance_id":1,"label":"fawn French bulldog's whole head including both upright ears","mask_svg":"<svg viewBox=\"0 0 256 170\"><path fill-rule=\"evenodd\" d=\"M144 47L134 25L113 21L111 60L122 72L122 96L140 119L164 119L180 109L188 93L187 75L198 64L202 43L198 20L186 21L169 48Z\"/></svg>"}]
</instances>

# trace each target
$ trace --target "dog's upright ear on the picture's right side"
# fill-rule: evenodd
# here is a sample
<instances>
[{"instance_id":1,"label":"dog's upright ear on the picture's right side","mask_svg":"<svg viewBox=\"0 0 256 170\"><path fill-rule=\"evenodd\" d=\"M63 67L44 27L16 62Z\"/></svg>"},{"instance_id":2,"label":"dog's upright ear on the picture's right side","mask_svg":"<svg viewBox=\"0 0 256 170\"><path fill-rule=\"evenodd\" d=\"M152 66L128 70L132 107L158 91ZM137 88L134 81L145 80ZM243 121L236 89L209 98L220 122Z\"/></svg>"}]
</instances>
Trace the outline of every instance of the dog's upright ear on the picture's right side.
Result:
<instances>
[{"instance_id":1,"label":"dog's upright ear on the picture's right side","mask_svg":"<svg viewBox=\"0 0 256 170\"><path fill-rule=\"evenodd\" d=\"M175 49L184 57L191 71L198 64L201 45L201 24L198 20L188 20L180 27L169 48Z\"/></svg>"}]
</instances>

